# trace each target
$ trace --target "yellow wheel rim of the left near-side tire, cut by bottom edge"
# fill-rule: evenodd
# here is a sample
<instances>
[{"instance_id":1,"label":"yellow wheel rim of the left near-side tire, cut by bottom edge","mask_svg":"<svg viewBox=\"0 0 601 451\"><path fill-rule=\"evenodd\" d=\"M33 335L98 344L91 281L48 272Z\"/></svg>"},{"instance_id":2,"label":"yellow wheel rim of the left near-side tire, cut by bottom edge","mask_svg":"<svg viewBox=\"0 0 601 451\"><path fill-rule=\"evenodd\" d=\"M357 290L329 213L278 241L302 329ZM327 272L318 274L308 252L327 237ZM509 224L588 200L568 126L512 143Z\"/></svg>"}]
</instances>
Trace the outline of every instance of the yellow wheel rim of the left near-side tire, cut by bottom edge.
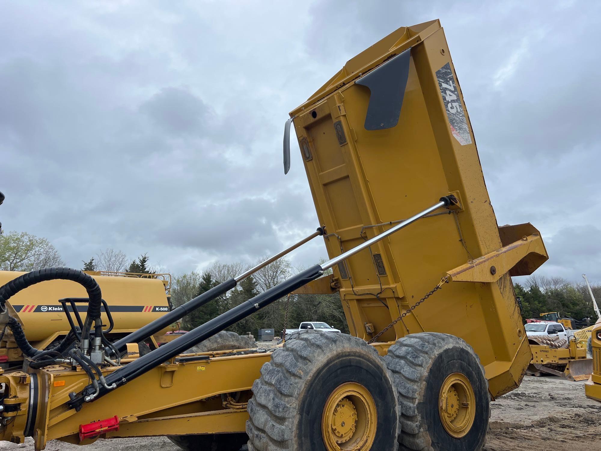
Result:
<instances>
[{"instance_id":1,"label":"yellow wheel rim of the left near-side tire, cut by bottom edge","mask_svg":"<svg viewBox=\"0 0 601 451\"><path fill-rule=\"evenodd\" d=\"M376 403L363 385L346 382L328 396L322 413L322 437L328 451L370 449L376 425Z\"/></svg>"}]
</instances>

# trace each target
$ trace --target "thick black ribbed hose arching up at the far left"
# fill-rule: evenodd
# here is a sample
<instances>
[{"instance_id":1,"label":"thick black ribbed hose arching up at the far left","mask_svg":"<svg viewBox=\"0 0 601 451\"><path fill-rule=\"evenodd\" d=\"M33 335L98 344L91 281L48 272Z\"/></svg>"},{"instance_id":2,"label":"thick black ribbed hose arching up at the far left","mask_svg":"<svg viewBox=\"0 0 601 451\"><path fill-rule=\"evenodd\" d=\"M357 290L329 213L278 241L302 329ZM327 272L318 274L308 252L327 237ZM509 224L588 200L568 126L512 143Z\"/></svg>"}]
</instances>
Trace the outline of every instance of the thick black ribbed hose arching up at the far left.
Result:
<instances>
[{"instance_id":1,"label":"thick black ribbed hose arching up at the far left","mask_svg":"<svg viewBox=\"0 0 601 451\"><path fill-rule=\"evenodd\" d=\"M14 280L11 280L8 283L5 283L0 287L0 313L4 313L6 311L6 301L10 299L12 296L16 295L20 291L35 285L40 282L44 282L47 280L71 280L76 283L79 283L81 286L85 288L88 292L88 313L85 318L84 328L82 329L82 343L84 340L89 340L90 338L90 330L92 327L92 323L96 325L96 329L102 328L102 321L100 320L100 307L102 305L102 292L100 291L100 286L97 281L94 280L90 275L85 274L85 272L79 271L78 269L72 268L44 268L37 269L36 271L28 272L27 274L20 275ZM28 340L25 338L25 333L23 333L23 328L19 324L19 322L10 318L8 320L8 327L13 331L15 341L17 342L17 346L19 349L28 357L33 357L38 352L38 349L35 349L31 346ZM61 349L69 348L70 343L66 343L66 340L69 336L65 337L63 342L59 345Z\"/></svg>"}]
</instances>

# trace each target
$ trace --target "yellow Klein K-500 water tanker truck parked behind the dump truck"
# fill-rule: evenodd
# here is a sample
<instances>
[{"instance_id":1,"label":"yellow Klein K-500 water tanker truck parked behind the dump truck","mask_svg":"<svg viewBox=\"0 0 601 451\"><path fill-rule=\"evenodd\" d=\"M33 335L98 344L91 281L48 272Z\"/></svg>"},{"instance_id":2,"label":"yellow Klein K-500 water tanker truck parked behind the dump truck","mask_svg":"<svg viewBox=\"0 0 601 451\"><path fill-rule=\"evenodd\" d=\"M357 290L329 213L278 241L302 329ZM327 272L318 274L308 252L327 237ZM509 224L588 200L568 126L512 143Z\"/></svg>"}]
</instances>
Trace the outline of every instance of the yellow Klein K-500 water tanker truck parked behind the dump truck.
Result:
<instances>
[{"instance_id":1,"label":"yellow Klein K-500 water tanker truck parked behind the dump truck","mask_svg":"<svg viewBox=\"0 0 601 451\"><path fill-rule=\"evenodd\" d=\"M24 274L16 271L0 271L0 285ZM132 274L127 272L88 272L93 275L102 289L103 299L109 306L107 316L102 308L102 320L112 325L105 333L108 339L118 339L160 318L169 311L169 274ZM85 319L87 302L85 289L78 284L56 280L36 285L18 293L7 308L10 315L19 321L29 342L39 349L56 345L69 334L69 316L76 322L75 310ZM65 307L69 316L66 315ZM150 337L150 342L160 336ZM23 353L7 328L0 339L0 367L4 370L22 366Z\"/></svg>"}]
</instances>

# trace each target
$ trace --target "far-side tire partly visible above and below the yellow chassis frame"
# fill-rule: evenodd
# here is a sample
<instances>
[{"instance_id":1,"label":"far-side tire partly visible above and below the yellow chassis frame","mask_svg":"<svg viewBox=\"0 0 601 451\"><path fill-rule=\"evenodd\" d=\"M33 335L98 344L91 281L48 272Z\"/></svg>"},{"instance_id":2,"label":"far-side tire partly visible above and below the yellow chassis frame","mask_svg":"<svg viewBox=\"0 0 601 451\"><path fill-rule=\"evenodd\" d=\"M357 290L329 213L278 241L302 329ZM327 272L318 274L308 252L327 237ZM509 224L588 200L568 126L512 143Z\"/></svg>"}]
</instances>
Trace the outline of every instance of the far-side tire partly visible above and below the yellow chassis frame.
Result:
<instances>
[{"instance_id":1,"label":"far-side tire partly visible above and below the yellow chassis frame","mask_svg":"<svg viewBox=\"0 0 601 451\"><path fill-rule=\"evenodd\" d=\"M247 337L235 332L222 331L204 342L193 346L188 352L227 351L228 349L256 348ZM186 451L238 451L248 435L244 432L231 434L168 435L167 438Z\"/></svg>"}]
</instances>

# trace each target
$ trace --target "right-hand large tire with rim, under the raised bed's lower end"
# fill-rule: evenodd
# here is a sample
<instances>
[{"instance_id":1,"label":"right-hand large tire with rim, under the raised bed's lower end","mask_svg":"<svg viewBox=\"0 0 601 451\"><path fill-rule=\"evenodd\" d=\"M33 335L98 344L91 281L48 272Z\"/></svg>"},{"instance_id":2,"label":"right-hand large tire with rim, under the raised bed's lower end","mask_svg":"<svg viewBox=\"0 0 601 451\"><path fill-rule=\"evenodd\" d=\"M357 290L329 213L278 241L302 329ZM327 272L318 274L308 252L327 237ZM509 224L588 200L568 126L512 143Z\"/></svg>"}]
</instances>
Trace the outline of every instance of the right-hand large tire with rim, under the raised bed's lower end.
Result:
<instances>
[{"instance_id":1,"label":"right-hand large tire with rim, under the raised bed's lower end","mask_svg":"<svg viewBox=\"0 0 601 451\"><path fill-rule=\"evenodd\" d=\"M398 390L401 450L483 449L488 381L468 343L448 334L409 334L388 349L384 361Z\"/></svg>"}]
</instances>

